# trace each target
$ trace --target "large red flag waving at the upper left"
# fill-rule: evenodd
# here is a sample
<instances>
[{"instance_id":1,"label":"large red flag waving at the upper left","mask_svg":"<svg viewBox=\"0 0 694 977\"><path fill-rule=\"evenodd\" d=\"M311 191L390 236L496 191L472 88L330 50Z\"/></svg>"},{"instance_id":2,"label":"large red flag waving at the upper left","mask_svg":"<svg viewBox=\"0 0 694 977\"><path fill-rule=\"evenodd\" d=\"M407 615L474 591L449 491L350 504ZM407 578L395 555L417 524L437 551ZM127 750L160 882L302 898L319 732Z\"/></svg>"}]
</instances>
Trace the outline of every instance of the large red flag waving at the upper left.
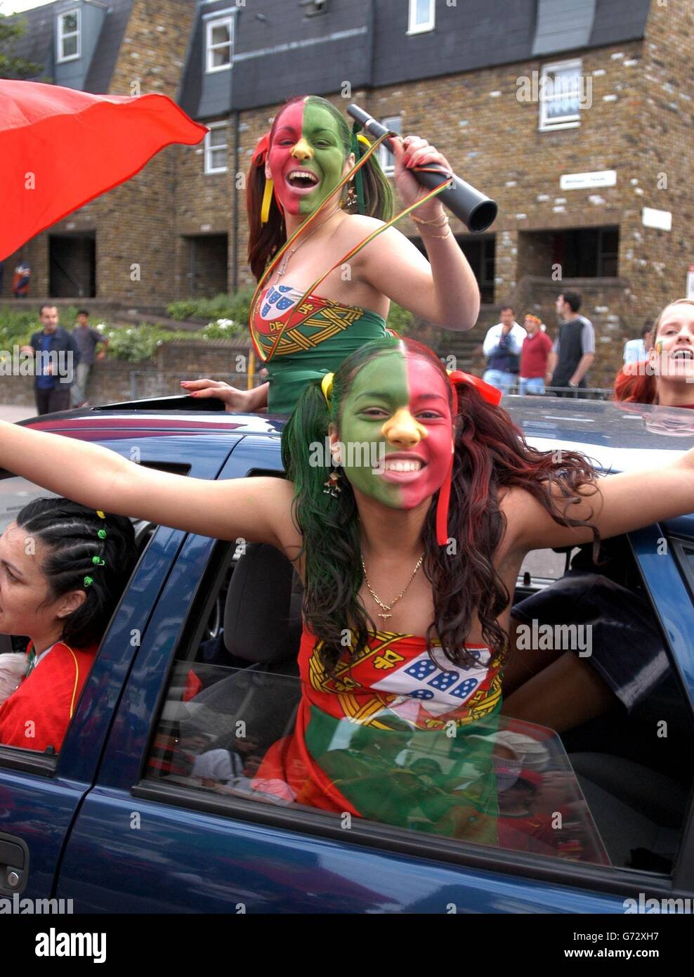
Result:
<instances>
[{"instance_id":1,"label":"large red flag waving at the upper left","mask_svg":"<svg viewBox=\"0 0 694 977\"><path fill-rule=\"evenodd\" d=\"M92 95L0 79L0 261L207 127L166 95Z\"/></svg>"}]
</instances>

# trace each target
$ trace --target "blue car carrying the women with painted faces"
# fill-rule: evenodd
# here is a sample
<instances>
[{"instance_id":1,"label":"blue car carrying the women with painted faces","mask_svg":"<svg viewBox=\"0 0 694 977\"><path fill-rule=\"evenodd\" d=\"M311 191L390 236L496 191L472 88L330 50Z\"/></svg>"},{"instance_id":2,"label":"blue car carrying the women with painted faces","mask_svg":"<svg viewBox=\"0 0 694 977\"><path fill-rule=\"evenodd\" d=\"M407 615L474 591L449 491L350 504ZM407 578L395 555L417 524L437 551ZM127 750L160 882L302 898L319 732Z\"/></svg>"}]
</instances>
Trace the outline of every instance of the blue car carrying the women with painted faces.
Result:
<instances>
[{"instance_id":1,"label":"blue car carrying the women with painted faces","mask_svg":"<svg viewBox=\"0 0 694 977\"><path fill-rule=\"evenodd\" d=\"M694 446L693 411L504 406L531 445L585 451L604 470ZM282 418L214 401L22 423L192 478L283 475ZM46 492L1 476L4 529ZM138 565L60 753L0 746L1 896L69 899L75 913L620 914L639 894L694 896L694 514L610 541L633 606L662 639L662 674L633 709L616 704L560 735L511 719L495 734L515 787L496 844L439 834L416 804L404 825L337 816L258 775L300 698L302 595L290 565L243 539L142 522L136 533ZM514 603L544 594L551 605L575 557L530 554ZM605 614L629 617L623 605ZM0 636L0 652L17 640ZM428 759L429 776L443 762L420 756L421 776ZM405 751L397 763L407 762Z\"/></svg>"}]
</instances>

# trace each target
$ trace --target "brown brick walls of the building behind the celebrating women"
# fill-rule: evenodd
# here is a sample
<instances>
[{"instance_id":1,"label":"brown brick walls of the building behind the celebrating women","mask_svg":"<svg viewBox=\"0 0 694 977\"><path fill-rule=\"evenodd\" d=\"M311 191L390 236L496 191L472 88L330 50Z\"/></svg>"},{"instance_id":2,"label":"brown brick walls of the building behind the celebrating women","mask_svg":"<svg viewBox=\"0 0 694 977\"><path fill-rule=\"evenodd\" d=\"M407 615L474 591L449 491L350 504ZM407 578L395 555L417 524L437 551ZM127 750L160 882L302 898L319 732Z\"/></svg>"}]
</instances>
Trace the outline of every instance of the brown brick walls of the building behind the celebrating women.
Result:
<instances>
[{"instance_id":1,"label":"brown brick walls of the building behind the celebrating women","mask_svg":"<svg viewBox=\"0 0 694 977\"><path fill-rule=\"evenodd\" d=\"M175 95L193 12L189 0L136 0L111 90L130 93L131 83L140 79L143 92ZM619 278L585 279L579 288L584 294L582 311L598 333L593 382L619 366L622 342L638 333L643 319L655 318L667 301L683 294L686 268L694 260L694 205L688 192L694 164L689 84L693 33L691 5L654 2L645 40L584 52L583 73L592 85L592 106L583 111L578 129L540 132L538 103L518 101L518 79L531 77L552 59L368 93L355 89L348 100L339 93L329 96L343 111L347 101L354 101L377 117L401 115L406 133L429 138L458 173L499 203L493 227L495 304L482 310L465 340L423 325L423 336L430 337L439 351L455 348L471 357L506 301L516 307L519 319L525 311L542 315L554 333L554 297L562 284L571 283L552 279L548 249L536 238L521 239L524 231L620 227ZM228 120L225 174L204 173L202 146L165 149L128 184L56 227L61 230L72 223L76 230L97 228L100 294L133 305L188 297L190 242L201 234L228 236L229 285L234 274L239 286L252 282L246 266L244 175L258 139L280 107L240 114L238 166L233 155L235 120ZM606 169L617 171L616 187L559 190L563 173ZM673 231L644 228L644 205L671 210ZM465 232L456 219L451 223L455 233ZM416 234L409 221L399 226L405 234ZM47 241L48 235L41 234L27 248L34 295L45 294L47 288ZM205 247L201 242L202 261ZM198 273L203 292L217 290L224 277L223 269L212 269L219 255L211 252L207 278ZM131 280L133 264L141 268L140 281ZM13 259L6 263L5 294L11 267Z\"/></svg>"}]
</instances>

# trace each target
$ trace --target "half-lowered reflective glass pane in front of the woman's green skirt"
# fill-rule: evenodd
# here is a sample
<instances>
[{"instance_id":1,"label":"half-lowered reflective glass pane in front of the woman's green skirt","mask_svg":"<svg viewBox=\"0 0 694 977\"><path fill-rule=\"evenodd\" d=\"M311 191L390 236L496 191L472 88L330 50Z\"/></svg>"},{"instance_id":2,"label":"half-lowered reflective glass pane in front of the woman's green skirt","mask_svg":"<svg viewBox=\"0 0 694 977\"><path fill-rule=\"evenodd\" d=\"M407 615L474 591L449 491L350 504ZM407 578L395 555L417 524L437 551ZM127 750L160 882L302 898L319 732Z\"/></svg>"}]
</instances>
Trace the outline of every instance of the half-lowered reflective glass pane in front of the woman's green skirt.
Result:
<instances>
[{"instance_id":1,"label":"half-lowered reflective glass pane in front of the woman's green skirt","mask_svg":"<svg viewBox=\"0 0 694 977\"><path fill-rule=\"evenodd\" d=\"M405 723L393 729L392 713L385 709L369 724L345 719L314 731L308 776L300 757L287 770L277 763L291 744L300 700L296 677L180 662L147 776L230 797L343 809L399 828L609 864L551 730L506 719L475 722L469 731L432 733Z\"/></svg>"}]
</instances>

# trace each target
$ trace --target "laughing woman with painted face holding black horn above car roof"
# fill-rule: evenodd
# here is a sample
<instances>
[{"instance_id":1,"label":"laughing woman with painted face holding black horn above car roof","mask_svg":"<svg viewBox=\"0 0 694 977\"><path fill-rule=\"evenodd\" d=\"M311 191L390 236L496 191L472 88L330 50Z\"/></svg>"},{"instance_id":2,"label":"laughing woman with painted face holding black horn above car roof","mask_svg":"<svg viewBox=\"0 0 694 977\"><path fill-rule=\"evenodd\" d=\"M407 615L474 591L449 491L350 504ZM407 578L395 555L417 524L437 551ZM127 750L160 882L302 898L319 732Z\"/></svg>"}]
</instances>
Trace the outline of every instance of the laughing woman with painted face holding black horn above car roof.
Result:
<instances>
[{"instance_id":1,"label":"laughing woman with painted face holding black horn above car roof","mask_svg":"<svg viewBox=\"0 0 694 977\"><path fill-rule=\"evenodd\" d=\"M220 381L183 381L184 390L222 398L231 410L267 404L289 413L308 380L388 335L391 299L447 329L474 324L479 290L468 261L442 205L408 172L450 164L416 136L393 142L394 183L405 208L429 197L411 215L429 261L384 224L392 215L388 179L342 113L315 96L282 108L256 149L246 194L249 263L259 280L250 328L269 382L238 391Z\"/></svg>"}]
</instances>

